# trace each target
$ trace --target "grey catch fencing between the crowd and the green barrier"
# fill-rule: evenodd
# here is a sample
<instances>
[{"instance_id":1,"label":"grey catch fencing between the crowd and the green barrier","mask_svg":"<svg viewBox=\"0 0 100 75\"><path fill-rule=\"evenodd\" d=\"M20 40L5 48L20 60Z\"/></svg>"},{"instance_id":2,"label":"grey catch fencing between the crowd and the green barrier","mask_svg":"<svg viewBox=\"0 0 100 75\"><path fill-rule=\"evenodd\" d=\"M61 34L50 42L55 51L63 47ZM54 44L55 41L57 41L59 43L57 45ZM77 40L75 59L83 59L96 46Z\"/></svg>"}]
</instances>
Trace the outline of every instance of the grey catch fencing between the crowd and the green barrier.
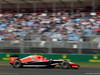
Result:
<instances>
[{"instance_id":1,"label":"grey catch fencing between the crowd and the green barrier","mask_svg":"<svg viewBox=\"0 0 100 75\"><path fill-rule=\"evenodd\" d=\"M1 53L100 54L100 36L81 36L77 41L0 41Z\"/></svg>"}]
</instances>

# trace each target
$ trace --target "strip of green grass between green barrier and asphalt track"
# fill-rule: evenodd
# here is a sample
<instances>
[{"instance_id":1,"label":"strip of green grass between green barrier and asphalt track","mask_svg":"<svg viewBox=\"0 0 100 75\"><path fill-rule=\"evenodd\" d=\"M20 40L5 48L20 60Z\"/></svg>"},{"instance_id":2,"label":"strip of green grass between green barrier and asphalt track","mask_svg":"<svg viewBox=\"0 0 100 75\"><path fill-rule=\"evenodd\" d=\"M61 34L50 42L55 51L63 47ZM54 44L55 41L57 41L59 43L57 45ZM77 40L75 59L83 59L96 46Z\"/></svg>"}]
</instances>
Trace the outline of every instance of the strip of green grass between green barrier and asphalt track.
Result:
<instances>
[{"instance_id":1,"label":"strip of green grass between green barrier and asphalt track","mask_svg":"<svg viewBox=\"0 0 100 75\"><path fill-rule=\"evenodd\" d=\"M90 63L90 62L74 62L78 65L80 65L80 67L100 67L100 63ZM0 60L0 65L10 65L9 61L2 61Z\"/></svg>"}]
</instances>

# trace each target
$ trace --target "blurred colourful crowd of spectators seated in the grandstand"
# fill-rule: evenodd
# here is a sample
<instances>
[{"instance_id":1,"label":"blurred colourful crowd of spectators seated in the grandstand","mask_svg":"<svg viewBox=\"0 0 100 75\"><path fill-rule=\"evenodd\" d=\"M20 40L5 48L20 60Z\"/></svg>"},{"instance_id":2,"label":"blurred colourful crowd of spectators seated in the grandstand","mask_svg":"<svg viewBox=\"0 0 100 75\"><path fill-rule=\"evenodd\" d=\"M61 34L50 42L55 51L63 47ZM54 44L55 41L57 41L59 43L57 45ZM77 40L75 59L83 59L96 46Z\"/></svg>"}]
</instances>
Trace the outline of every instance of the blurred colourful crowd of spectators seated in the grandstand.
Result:
<instances>
[{"instance_id":1,"label":"blurred colourful crowd of spectators seated in the grandstand","mask_svg":"<svg viewBox=\"0 0 100 75\"><path fill-rule=\"evenodd\" d=\"M99 35L100 16L90 13L0 14L0 40L20 40L27 35L41 40L74 41L80 35Z\"/></svg>"}]
</instances>

